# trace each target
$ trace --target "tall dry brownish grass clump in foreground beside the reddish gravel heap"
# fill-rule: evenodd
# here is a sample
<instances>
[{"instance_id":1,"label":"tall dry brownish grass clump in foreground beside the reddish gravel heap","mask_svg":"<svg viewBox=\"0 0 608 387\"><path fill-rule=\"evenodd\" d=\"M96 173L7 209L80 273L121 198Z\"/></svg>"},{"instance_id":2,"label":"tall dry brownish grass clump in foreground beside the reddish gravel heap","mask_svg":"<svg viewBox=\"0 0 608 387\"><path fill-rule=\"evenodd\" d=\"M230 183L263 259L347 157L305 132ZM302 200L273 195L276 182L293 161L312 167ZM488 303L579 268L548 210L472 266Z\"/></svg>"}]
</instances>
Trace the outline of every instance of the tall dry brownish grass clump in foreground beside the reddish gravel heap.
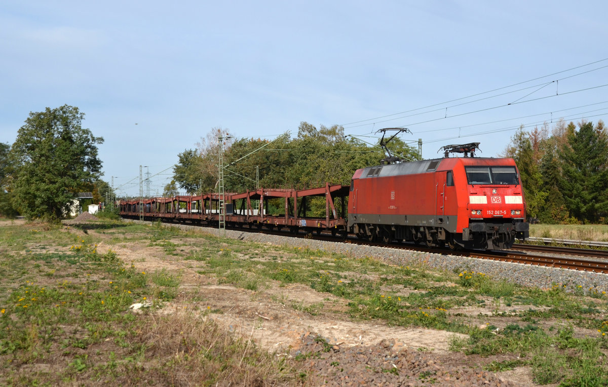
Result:
<instances>
[{"instance_id":1,"label":"tall dry brownish grass clump in foreground beside the reddish gravel heap","mask_svg":"<svg viewBox=\"0 0 608 387\"><path fill-rule=\"evenodd\" d=\"M278 386L295 382L295 371L282 360L258 349L251 340L235 337L209 315L150 315L149 330L142 340L148 345L147 357L157 362L154 380L164 379L167 385Z\"/></svg>"}]
</instances>

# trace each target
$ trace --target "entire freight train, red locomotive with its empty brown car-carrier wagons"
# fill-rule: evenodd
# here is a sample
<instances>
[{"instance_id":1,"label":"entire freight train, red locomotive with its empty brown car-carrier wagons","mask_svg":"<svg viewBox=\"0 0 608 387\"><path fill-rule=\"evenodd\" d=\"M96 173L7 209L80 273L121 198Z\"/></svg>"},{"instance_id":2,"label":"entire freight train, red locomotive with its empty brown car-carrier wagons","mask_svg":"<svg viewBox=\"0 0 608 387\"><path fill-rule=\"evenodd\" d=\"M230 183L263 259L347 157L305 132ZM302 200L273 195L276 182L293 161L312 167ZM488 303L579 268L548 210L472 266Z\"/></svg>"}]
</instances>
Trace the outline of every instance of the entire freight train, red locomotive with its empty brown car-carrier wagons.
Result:
<instances>
[{"instance_id":1,"label":"entire freight train, red locomotive with its empty brown car-carrier wagons","mask_svg":"<svg viewBox=\"0 0 608 387\"><path fill-rule=\"evenodd\" d=\"M120 214L193 224L225 222L256 230L285 227L293 233L325 230L375 242L451 249L510 248L516 238L528 238L519 171L513 159L474 157L478 145L445 146L441 159L396 163L391 159L393 163L362 168L354 173L350 186L326 183L309 190L258 188L224 196L123 200ZM449 152L465 157L448 157ZM318 204L322 198L325 216L307 216L309 203L317 200ZM274 212L268 210L271 201Z\"/></svg>"}]
</instances>

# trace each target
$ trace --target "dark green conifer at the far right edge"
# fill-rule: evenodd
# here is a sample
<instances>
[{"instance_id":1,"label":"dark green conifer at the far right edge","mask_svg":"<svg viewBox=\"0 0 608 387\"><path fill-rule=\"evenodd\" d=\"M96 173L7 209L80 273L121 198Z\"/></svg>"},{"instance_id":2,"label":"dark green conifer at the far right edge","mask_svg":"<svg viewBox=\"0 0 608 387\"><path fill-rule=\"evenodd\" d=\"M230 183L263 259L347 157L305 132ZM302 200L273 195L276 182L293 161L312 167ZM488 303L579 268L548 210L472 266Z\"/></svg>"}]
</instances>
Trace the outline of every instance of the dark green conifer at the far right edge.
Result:
<instances>
[{"instance_id":1,"label":"dark green conifer at the far right edge","mask_svg":"<svg viewBox=\"0 0 608 387\"><path fill-rule=\"evenodd\" d=\"M598 222L608 214L608 135L604 123L591 122L570 130L560 152L563 175L559 179L570 214L582 222Z\"/></svg>"}]
</instances>

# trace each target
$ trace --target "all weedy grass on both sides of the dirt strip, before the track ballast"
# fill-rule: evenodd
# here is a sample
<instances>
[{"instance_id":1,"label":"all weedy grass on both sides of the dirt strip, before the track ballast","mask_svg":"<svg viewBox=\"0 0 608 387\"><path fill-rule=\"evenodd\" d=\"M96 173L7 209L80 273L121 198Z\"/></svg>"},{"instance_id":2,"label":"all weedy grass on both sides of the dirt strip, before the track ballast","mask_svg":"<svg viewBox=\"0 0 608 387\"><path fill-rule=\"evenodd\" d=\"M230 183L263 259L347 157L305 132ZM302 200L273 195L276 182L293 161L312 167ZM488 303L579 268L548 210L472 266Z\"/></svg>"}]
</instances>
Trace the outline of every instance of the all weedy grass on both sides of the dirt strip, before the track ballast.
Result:
<instances>
[{"instance_id":1,"label":"all weedy grass on both sides of the dirt strip, before the track ballast","mask_svg":"<svg viewBox=\"0 0 608 387\"><path fill-rule=\"evenodd\" d=\"M294 284L324 293L322 302L273 298L313 316L466 334L452 341L452 351L487 358L489 371L527 366L539 384L608 383L608 299L598 289L527 288L466 268L387 265L370 256L113 221L0 227L0 363L6 371L0 383L298 383L297 362L277 360L201 318L222 309L157 313L184 302L183 273L171 265L137 270L112 250L98 251L102 236L111 248L149 248L253 298ZM147 307L134 313L134 303ZM24 366L33 372L22 372Z\"/></svg>"}]
</instances>

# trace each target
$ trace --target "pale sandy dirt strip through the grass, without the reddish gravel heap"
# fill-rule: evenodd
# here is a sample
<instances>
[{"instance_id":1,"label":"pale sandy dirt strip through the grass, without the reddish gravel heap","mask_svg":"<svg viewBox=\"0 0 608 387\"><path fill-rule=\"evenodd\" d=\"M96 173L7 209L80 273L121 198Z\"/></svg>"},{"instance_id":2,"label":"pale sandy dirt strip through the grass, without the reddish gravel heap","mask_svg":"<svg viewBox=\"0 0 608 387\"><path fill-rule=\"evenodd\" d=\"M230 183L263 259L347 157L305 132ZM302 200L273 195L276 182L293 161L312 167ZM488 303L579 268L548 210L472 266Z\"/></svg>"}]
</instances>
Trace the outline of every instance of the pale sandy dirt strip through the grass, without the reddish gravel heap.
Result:
<instances>
[{"instance_id":1,"label":"pale sandy dirt strip through the grass, without the reddish gravel heap","mask_svg":"<svg viewBox=\"0 0 608 387\"><path fill-rule=\"evenodd\" d=\"M254 339L261 348L276 352L277 356L289 356L297 351L302 345L302 338L314 332L339 346L376 346L382 340L392 341L396 350L402 347L421 351L446 366L477 369L492 360L505 360L499 357L466 357L459 352L449 352L449 341L453 337L463 337L461 334L351 321L347 314L340 313L346 309L347 301L330 293L319 293L300 284L280 286L280 283L272 281L256 291L218 284L216 278L198 273L196 262L185 261L182 256L167 255L160 247L144 243L108 245L103 242L110 238L107 234L94 230L89 230L88 234L102 241L98 251L105 252L111 248L126 265L134 265L137 270L153 272L165 269L179 275L181 285L178 296L159 309L159 313L221 310L221 313L210 313L210 318L241 337ZM184 241L176 239L172 242L181 244ZM315 309L314 315L304 311L315 304L323 304L323 307ZM472 323L482 324L483 316L492 314L492 310L484 308L468 308L458 312L471 315ZM501 372L499 375L517 385L535 385L527 368Z\"/></svg>"}]
</instances>

